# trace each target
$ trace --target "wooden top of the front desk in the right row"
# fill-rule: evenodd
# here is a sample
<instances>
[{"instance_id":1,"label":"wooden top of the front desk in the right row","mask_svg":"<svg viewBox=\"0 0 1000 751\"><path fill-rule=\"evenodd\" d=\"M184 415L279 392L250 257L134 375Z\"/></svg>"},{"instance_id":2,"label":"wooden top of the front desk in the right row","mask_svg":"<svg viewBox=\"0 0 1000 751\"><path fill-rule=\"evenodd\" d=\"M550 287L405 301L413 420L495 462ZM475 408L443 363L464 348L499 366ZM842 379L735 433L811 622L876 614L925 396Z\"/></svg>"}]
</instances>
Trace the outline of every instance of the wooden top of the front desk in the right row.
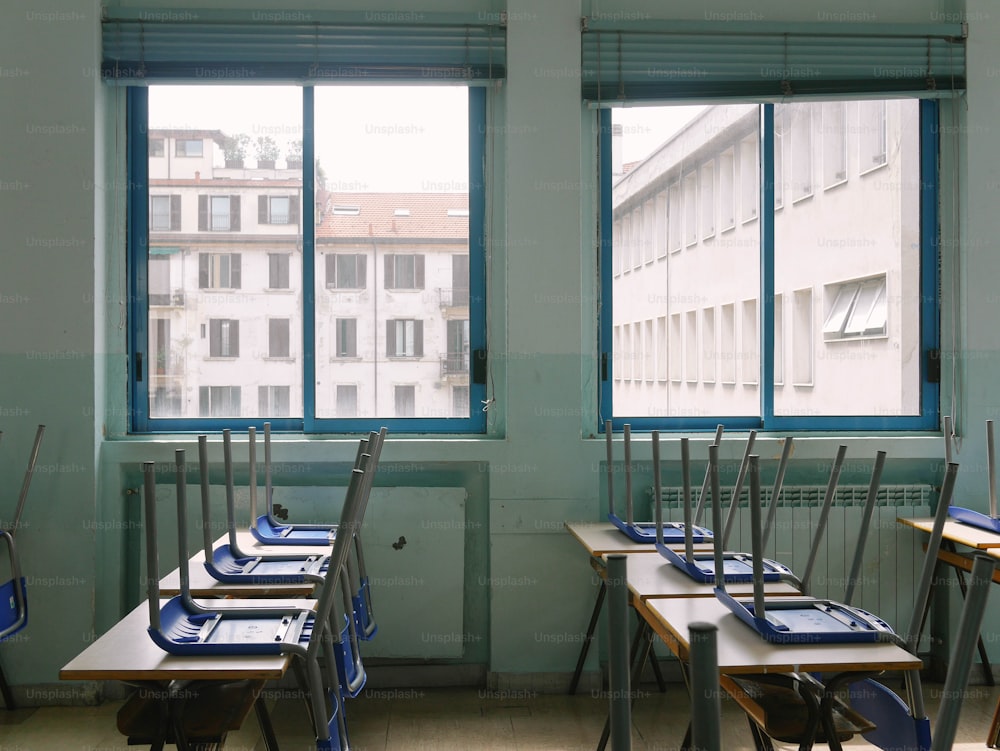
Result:
<instances>
[{"instance_id":1,"label":"wooden top of the front desk in the right row","mask_svg":"<svg viewBox=\"0 0 1000 751\"><path fill-rule=\"evenodd\" d=\"M715 625L721 673L864 672L922 666L919 658L894 644L771 644L714 597L650 599L636 610L682 660L689 658L689 626Z\"/></svg>"}]
</instances>

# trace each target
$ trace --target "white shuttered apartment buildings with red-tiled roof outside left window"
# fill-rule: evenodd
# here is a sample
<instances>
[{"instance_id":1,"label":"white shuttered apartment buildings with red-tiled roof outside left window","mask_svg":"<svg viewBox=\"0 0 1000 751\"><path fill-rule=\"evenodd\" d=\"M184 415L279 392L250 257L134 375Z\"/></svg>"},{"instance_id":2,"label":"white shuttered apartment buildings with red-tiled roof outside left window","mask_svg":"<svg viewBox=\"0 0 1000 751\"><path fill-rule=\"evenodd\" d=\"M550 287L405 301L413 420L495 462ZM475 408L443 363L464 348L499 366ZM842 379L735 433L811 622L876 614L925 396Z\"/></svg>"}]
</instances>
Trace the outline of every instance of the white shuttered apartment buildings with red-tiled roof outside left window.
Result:
<instances>
[{"instance_id":1,"label":"white shuttered apartment buildings with red-tiled roof outside left window","mask_svg":"<svg viewBox=\"0 0 1000 751\"><path fill-rule=\"evenodd\" d=\"M224 141L149 134L150 416L302 416L301 170ZM317 417L467 416L467 194L316 204Z\"/></svg>"}]
</instances>

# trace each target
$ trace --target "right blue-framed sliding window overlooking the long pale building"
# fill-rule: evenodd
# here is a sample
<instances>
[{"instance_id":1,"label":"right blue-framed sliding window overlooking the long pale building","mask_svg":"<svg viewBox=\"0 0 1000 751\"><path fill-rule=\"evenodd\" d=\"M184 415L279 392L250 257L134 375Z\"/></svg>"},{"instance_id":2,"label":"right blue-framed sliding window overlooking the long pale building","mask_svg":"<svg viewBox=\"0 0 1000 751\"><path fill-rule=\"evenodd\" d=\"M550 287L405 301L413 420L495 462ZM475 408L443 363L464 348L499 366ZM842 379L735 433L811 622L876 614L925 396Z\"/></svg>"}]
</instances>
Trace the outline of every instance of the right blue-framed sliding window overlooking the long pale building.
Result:
<instances>
[{"instance_id":1,"label":"right blue-framed sliding window overlooking the long pale building","mask_svg":"<svg viewBox=\"0 0 1000 751\"><path fill-rule=\"evenodd\" d=\"M887 101L705 108L627 169L621 110L598 110L600 430L938 428L939 108ZM908 213L866 214L862 186ZM893 238L863 229L880 219Z\"/></svg>"}]
</instances>

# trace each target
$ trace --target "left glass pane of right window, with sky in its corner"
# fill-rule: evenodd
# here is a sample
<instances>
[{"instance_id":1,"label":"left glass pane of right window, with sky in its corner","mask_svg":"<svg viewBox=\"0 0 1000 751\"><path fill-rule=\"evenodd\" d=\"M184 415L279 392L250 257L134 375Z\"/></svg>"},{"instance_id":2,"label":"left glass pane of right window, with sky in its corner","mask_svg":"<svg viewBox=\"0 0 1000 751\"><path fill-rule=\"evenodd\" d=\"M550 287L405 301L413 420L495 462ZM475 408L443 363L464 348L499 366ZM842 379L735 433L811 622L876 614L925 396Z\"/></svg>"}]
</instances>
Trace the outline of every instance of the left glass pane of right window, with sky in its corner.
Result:
<instances>
[{"instance_id":1,"label":"left glass pane of right window, with sky in its corner","mask_svg":"<svg viewBox=\"0 0 1000 751\"><path fill-rule=\"evenodd\" d=\"M760 412L759 119L756 105L612 112L622 125L612 145L620 167L612 178L612 264L633 269L612 280L613 326L626 334L612 345L616 415ZM661 192L666 227L656 218L635 221ZM646 247L644 234L664 230L669 252L632 264L631 248Z\"/></svg>"}]
</instances>

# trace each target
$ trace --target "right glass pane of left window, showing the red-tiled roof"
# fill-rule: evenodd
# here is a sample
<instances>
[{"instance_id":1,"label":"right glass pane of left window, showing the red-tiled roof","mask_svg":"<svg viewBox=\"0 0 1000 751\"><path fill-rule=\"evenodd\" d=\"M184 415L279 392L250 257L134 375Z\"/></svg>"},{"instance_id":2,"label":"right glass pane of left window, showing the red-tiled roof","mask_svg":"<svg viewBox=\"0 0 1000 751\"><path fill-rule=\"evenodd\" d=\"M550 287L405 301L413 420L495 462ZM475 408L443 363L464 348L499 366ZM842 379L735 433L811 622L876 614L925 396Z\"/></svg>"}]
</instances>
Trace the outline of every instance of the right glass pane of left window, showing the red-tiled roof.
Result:
<instances>
[{"instance_id":1,"label":"right glass pane of left window, showing the red-tiled roof","mask_svg":"<svg viewBox=\"0 0 1000 751\"><path fill-rule=\"evenodd\" d=\"M315 112L316 416L468 417L468 91L322 86Z\"/></svg>"}]
</instances>

